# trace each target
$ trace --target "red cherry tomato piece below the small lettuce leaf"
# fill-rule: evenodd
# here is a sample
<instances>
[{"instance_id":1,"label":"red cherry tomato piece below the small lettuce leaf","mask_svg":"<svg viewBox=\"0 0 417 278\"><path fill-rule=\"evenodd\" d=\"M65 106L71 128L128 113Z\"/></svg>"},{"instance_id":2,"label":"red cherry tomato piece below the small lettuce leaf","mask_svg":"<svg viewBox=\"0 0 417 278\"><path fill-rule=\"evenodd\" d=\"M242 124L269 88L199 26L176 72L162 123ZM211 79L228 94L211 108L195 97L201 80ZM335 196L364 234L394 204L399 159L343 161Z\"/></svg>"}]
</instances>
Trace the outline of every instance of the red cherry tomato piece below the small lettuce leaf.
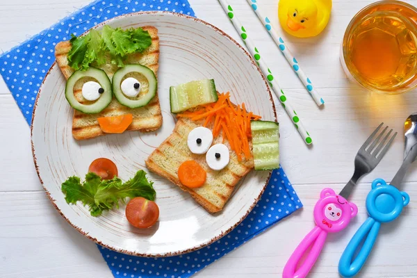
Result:
<instances>
[{"instance_id":1,"label":"red cherry tomato piece below the small lettuce leaf","mask_svg":"<svg viewBox=\"0 0 417 278\"><path fill-rule=\"evenodd\" d=\"M159 218L158 205L144 197L133 198L126 206L126 218L136 228L149 228Z\"/></svg>"}]
</instances>

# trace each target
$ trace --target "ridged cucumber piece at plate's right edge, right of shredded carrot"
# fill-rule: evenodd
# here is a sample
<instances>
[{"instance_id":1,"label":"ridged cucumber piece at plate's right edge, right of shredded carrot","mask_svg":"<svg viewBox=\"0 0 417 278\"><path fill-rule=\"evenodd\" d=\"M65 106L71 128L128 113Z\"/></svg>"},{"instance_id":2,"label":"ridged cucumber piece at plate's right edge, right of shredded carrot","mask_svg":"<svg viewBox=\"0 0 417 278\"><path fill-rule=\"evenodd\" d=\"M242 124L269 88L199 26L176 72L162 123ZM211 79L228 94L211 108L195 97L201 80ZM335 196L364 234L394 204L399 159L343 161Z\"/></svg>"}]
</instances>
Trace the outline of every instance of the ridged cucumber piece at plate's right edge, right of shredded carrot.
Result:
<instances>
[{"instance_id":1,"label":"ridged cucumber piece at plate's right edge, right of shredded carrot","mask_svg":"<svg viewBox=\"0 0 417 278\"><path fill-rule=\"evenodd\" d=\"M255 170L279 168L279 124L277 122L252 121L252 145Z\"/></svg>"}]
</instances>

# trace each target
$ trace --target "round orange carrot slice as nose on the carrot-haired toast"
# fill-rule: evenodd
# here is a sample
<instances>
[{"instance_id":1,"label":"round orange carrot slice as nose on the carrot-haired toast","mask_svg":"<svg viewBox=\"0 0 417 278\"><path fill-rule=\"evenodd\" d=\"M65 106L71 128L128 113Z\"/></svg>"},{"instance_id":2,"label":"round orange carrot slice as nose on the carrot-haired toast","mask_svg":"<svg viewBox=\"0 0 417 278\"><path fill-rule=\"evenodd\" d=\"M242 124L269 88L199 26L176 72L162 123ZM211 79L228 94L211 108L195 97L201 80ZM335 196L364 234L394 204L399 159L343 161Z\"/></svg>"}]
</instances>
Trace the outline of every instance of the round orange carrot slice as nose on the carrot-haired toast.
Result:
<instances>
[{"instance_id":1,"label":"round orange carrot slice as nose on the carrot-haired toast","mask_svg":"<svg viewBox=\"0 0 417 278\"><path fill-rule=\"evenodd\" d=\"M207 172L195 161L183 162L178 168L178 179L189 188L197 188L206 182Z\"/></svg>"}]
</instances>

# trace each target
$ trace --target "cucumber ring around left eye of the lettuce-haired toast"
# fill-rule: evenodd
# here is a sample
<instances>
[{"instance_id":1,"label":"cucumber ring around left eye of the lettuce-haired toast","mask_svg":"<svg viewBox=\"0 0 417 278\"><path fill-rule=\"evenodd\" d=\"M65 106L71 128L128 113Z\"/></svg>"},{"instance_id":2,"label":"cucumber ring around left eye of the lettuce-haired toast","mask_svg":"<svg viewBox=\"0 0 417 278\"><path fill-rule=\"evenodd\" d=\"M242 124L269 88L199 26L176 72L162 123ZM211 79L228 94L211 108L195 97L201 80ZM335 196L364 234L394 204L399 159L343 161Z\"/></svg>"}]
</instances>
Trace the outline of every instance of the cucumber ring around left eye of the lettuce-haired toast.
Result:
<instances>
[{"instance_id":1,"label":"cucumber ring around left eye of the lettuce-haired toast","mask_svg":"<svg viewBox=\"0 0 417 278\"><path fill-rule=\"evenodd\" d=\"M92 77L97 80L97 82L101 85L101 88L104 89L104 92L101 94L99 99L92 104L81 104L74 96L74 85L76 81L79 81L83 77ZM104 70L99 70L95 67L90 67L85 71L77 70L67 80L67 85L65 85L65 97L72 108L81 111L82 113L99 113L111 103L112 92L110 79L108 79Z\"/></svg>"}]
</instances>

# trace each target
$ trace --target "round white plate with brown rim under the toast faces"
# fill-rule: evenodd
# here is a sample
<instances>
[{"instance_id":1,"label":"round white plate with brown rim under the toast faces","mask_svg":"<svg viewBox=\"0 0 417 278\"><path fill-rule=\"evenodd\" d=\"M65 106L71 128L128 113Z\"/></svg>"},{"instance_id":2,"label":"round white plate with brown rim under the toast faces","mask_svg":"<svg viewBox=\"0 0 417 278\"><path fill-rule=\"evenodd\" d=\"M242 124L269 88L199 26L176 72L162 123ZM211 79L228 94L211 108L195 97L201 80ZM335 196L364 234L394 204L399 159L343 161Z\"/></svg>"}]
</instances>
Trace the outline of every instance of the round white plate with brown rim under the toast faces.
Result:
<instances>
[{"instance_id":1,"label":"round white plate with brown rim under the toast faces","mask_svg":"<svg viewBox=\"0 0 417 278\"><path fill-rule=\"evenodd\" d=\"M202 20L151 12L117 17L106 24L158 28L161 44L158 95L163 126L155 133L129 131L81 142L74 140L73 110L64 95L65 78L54 64L42 83L33 111L33 158L40 181L67 222L84 236L112 250L138 256L170 256L204 247L227 234L247 216L261 197L269 172L250 172L223 211L215 215L207 213L188 193L149 173L161 212L159 222L150 229L131 227L124 217L124 205L94 218L82 204L68 205L60 185L73 175L83 179L88 165L99 157L111 158L124 180L140 169L147 171L145 159L174 128L170 85L213 78L220 92L230 91L234 101L245 102L250 111L264 120L275 120L268 85L254 60L236 41Z\"/></svg>"}]
</instances>

